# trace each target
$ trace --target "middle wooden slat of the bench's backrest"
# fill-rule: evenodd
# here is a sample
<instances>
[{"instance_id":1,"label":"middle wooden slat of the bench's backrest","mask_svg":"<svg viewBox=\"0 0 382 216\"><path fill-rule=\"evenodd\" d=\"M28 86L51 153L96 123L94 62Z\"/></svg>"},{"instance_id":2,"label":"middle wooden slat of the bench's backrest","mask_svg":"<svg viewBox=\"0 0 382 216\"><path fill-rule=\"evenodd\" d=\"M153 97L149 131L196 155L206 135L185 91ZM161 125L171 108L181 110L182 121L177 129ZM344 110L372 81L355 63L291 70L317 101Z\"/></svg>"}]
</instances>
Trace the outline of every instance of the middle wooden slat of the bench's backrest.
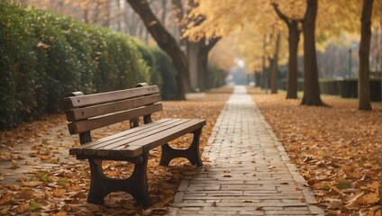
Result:
<instances>
[{"instance_id":1,"label":"middle wooden slat of the bench's backrest","mask_svg":"<svg viewBox=\"0 0 382 216\"><path fill-rule=\"evenodd\" d=\"M72 109L69 110L66 114L68 121L85 120L111 112L120 112L123 110L138 108L143 105L159 102L160 100L160 94L151 94L148 96L136 97L133 99L118 101L114 103L104 103Z\"/></svg>"}]
</instances>

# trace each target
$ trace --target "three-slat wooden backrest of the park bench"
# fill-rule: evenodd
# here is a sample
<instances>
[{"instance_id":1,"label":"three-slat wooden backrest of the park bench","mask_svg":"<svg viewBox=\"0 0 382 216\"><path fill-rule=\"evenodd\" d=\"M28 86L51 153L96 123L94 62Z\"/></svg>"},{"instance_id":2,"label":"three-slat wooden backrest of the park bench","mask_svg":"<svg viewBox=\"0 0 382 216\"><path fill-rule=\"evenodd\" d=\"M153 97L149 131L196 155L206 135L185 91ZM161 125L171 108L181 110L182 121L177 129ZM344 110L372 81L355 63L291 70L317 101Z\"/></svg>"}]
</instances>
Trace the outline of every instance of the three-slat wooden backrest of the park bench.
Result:
<instances>
[{"instance_id":1,"label":"three-slat wooden backrest of the park bench","mask_svg":"<svg viewBox=\"0 0 382 216\"><path fill-rule=\"evenodd\" d=\"M117 122L144 117L162 110L159 87L141 83L138 87L99 94L74 92L64 99L70 134L84 133Z\"/></svg>"}]
</instances>

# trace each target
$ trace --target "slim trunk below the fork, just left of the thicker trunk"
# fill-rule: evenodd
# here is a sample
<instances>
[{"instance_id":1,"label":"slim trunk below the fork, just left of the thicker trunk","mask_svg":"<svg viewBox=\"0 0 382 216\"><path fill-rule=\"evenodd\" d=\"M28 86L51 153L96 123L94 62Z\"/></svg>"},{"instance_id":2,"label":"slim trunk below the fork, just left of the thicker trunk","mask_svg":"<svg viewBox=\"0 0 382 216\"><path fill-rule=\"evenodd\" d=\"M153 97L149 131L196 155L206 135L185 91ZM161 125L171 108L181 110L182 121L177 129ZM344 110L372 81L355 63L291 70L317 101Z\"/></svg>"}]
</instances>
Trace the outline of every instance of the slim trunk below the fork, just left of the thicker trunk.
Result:
<instances>
[{"instance_id":1,"label":"slim trunk below the fork, just left of the thicker trunk","mask_svg":"<svg viewBox=\"0 0 382 216\"><path fill-rule=\"evenodd\" d=\"M298 30L298 22L293 20L288 25L289 38L289 59L287 71L286 99L297 99L297 51L298 42L300 40L300 31Z\"/></svg>"}]
</instances>

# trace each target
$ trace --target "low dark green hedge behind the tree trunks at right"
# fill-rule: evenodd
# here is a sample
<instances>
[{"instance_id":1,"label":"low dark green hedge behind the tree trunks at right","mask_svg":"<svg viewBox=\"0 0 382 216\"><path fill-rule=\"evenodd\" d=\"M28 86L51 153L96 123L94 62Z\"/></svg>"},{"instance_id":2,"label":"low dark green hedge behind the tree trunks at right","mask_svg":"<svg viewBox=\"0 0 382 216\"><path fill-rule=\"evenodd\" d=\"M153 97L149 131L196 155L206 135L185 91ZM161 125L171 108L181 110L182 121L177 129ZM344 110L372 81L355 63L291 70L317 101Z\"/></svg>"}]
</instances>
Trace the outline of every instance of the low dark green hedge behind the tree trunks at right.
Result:
<instances>
[{"instance_id":1,"label":"low dark green hedge behind the tree trunks at right","mask_svg":"<svg viewBox=\"0 0 382 216\"><path fill-rule=\"evenodd\" d=\"M298 80L298 91L303 91L303 80ZM334 80L320 79L320 92L322 94L341 95L342 98L357 98L358 97L358 80ZM381 80L370 80L370 99L373 102L382 101ZM278 88L286 90L286 79L278 81Z\"/></svg>"}]
</instances>

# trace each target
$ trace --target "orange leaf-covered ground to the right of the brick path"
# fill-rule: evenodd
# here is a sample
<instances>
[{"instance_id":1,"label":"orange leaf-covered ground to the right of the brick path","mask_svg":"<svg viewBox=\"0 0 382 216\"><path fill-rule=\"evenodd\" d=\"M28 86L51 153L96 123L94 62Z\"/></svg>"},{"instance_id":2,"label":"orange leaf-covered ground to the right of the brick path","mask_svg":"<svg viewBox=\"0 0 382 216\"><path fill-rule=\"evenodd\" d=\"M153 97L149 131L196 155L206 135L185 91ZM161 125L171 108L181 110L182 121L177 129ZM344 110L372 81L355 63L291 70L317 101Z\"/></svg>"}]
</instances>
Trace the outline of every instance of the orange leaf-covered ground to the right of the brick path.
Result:
<instances>
[{"instance_id":1,"label":"orange leaf-covered ground to the right of the brick path","mask_svg":"<svg viewBox=\"0 0 382 216\"><path fill-rule=\"evenodd\" d=\"M323 96L331 107L299 105L285 94L251 90L253 100L327 215L381 215L382 103Z\"/></svg>"}]
</instances>

